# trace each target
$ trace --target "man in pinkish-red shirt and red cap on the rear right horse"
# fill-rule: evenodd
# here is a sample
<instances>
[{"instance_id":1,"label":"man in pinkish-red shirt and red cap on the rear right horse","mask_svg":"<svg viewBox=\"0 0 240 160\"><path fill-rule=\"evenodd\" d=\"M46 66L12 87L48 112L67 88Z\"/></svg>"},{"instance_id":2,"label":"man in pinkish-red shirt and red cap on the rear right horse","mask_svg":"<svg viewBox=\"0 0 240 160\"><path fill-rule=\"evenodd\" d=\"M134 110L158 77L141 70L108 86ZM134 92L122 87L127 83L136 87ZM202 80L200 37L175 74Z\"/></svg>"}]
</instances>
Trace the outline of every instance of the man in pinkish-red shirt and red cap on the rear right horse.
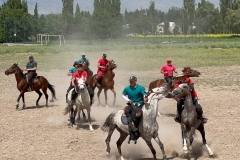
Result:
<instances>
[{"instance_id":1,"label":"man in pinkish-red shirt and red cap on the rear right horse","mask_svg":"<svg viewBox=\"0 0 240 160\"><path fill-rule=\"evenodd\" d=\"M164 78L168 83L168 90L170 90L172 87L173 72L177 73L176 67L172 65L172 59L167 58L167 64L162 66L161 73L164 75Z\"/></svg>"}]
</instances>

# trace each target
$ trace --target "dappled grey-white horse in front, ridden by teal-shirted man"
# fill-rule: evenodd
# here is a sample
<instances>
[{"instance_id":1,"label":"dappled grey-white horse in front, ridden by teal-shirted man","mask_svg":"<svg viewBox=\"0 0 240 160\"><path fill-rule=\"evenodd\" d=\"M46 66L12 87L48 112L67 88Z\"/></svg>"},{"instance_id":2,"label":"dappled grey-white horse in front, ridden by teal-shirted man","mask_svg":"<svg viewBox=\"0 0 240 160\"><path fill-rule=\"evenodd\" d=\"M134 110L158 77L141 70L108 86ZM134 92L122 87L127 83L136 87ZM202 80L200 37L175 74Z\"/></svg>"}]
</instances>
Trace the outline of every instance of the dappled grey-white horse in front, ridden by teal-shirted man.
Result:
<instances>
[{"instance_id":1,"label":"dappled grey-white horse in front, ridden by teal-shirted man","mask_svg":"<svg viewBox=\"0 0 240 160\"><path fill-rule=\"evenodd\" d=\"M163 159L167 160L166 154L164 151L164 146L160 141L160 138L158 135L158 123L156 121L156 117L158 113L158 101L163 98L163 95L162 95L163 91L164 91L163 87L159 87L159 88L154 88L147 93L146 97L148 97L148 103L143 105L142 118L139 124L140 137L142 137L147 143L148 147L150 148L153 154L154 160L156 160L156 151L152 146L152 142L151 142L152 138L154 138L154 140L160 146ZM128 125L124 125L121 121L123 114L124 114L124 110L117 110L115 112L112 112L107 117L105 123L102 126L103 131L105 132L108 131L108 136L107 136L107 139L105 140L107 145L107 150L106 150L107 156L110 155L109 143L114 130L117 129L118 132L120 133L120 138L117 141L117 148L118 148L118 153L121 156L121 160L124 160L122 156L121 145L123 141L126 139L126 137L129 135Z\"/></svg>"}]
</instances>

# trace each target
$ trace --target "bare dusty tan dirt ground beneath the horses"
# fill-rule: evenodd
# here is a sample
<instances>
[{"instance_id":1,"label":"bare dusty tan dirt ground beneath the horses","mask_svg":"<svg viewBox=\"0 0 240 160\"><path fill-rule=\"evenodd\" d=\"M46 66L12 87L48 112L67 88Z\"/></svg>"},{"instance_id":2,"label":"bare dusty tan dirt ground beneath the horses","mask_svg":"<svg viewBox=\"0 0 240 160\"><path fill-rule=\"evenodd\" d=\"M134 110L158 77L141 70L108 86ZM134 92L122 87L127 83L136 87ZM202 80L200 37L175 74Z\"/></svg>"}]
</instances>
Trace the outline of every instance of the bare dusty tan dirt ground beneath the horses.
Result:
<instances>
[{"instance_id":1,"label":"bare dusty tan dirt ground beneath the horses","mask_svg":"<svg viewBox=\"0 0 240 160\"><path fill-rule=\"evenodd\" d=\"M8 67L8 66L7 66ZM9 66L10 67L10 66ZM237 69L236 69L237 68ZM6 68L7 69L7 68ZM232 69L240 70L239 66L222 68L211 68L214 75L209 73L209 68L197 68L204 74L196 80L195 88L198 91L200 103L203 106L204 115L209 119L205 125L206 139L214 151L217 160L239 159L239 124L240 124L240 91L239 85L228 85L229 77L220 73L231 72ZM107 133L101 130L106 117L114 110L122 109L125 105L121 99L121 92L128 84L127 77L131 74L141 75L143 72L124 73L116 69L115 88L117 92L117 104L109 108L96 106L97 99L92 106L92 118L94 131L88 130L87 123L83 122L79 130L67 126L67 116L63 115L66 107L65 92L70 82L66 76L67 71L54 70L50 72L38 71L55 86L58 101L49 103L45 107L44 96L40 100L40 106L35 107L36 93L26 93L26 109L16 110L16 99L18 90L14 75L6 76L0 72L0 159L21 159L21 160L113 160L118 158L116 141L118 132L115 131L111 141L111 156L105 156L105 139ZM144 72L150 75L152 72ZM219 75L219 76L216 76ZM239 74L233 79L238 81ZM219 78L221 80L219 80ZM219 80L222 87L201 83L201 80ZM152 79L153 80L153 79ZM150 81L149 81L150 82ZM147 87L147 86L146 86ZM48 91L49 95L50 92ZM112 93L108 91L109 104L112 102ZM103 102L103 94L101 95ZM175 123L173 117L176 113L176 102L172 99L159 101L159 110L162 117L158 117L159 135L165 146L169 159L178 160L180 157L172 155L174 151L182 153L182 140L180 125ZM161 150L153 141L157 151L157 158L161 159ZM123 155L128 160L152 159L151 152L142 139L138 144L127 144L122 146ZM193 159L205 160L208 157L207 150L201 143L201 136L197 133L194 140Z\"/></svg>"}]
</instances>

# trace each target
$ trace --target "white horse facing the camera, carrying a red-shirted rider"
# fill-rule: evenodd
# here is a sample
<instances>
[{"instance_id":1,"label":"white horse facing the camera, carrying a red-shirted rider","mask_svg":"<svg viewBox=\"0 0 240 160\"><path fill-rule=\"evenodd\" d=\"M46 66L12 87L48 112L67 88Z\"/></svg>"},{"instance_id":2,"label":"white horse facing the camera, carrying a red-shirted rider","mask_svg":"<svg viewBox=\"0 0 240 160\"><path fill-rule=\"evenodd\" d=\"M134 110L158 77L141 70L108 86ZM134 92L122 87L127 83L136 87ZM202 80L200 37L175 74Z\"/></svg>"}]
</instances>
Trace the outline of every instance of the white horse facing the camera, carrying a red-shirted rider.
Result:
<instances>
[{"instance_id":1,"label":"white horse facing the camera, carrying a red-shirted rider","mask_svg":"<svg viewBox=\"0 0 240 160\"><path fill-rule=\"evenodd\" d=\"M75 105L76 109L75 109L74 113L71 112L70 120L71 120L72 126L75 125L75 116L76 116L76 112L77 112L78 117L77 117L76 128L78 129L80 127L80 113L81 113L81 110L86 109L87 114L88 114L89 129L90 129L90 131L93 131L94 129L91 125L91 117L90 117L90 111L91 111L90 97L89 97L89 94L88 94L88 91L87 91L87 87L84 83L83 77L82 78L77 78L77 82L78 82L79 91L78 92L76 91L76 92L78 93L78 95L77 95L76 99L74 100L74 102L72 104L68 103L67 107L65 108L64 115L69 113L73 109L73 106ZM73 88L73 89L75 89L75 88ZM71 100L71 93L72 93L73 89L70 90L70 92L68 93L68 101Z\"/></svg>"}]
</instances>

